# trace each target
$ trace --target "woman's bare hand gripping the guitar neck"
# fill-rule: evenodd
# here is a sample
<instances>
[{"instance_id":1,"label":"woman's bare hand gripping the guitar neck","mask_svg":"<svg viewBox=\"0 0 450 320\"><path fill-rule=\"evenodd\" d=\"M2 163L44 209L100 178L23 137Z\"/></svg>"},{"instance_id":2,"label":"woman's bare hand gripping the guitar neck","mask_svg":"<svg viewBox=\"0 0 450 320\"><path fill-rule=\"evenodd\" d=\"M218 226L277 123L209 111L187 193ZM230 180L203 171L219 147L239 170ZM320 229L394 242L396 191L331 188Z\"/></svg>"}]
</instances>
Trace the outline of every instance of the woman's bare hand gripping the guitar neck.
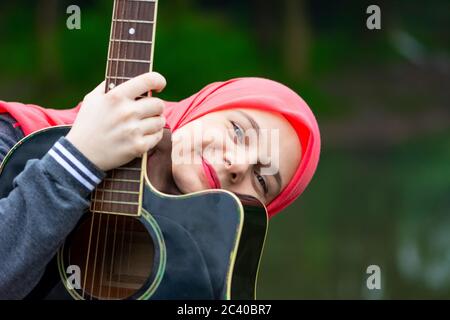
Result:
<instances>
[{"instance_id":1,"label":"woman's bare hand gripping the guitar neck","mask_svg":"<svg viewBox=\"0 0 450 320\"><path fill-rule=\"evenodd\" d=\"M161 99L138 96L160 92L166 80L158 73L131 79L108 93L101 83L83 101L67 139L99 169L108 171L142 156L162 138Z\"/></svg>"}]
</instances>

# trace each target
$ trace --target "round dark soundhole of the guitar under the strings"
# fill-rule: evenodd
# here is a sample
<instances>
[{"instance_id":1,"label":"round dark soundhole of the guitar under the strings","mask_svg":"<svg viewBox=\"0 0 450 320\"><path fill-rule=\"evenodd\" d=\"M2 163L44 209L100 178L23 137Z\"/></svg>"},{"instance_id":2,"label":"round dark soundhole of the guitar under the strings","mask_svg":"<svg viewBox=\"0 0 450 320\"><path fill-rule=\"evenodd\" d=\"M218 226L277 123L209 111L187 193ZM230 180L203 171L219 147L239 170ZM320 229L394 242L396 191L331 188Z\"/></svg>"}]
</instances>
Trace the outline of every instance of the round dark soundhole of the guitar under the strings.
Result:
<instances>
[{"instance_id":1,"label":"round dark soundhole of the guitar under the strings","mask_svg":"<svg viewBox=\"0 0 450 320\"><path fill-rule=\"evenodd\" d=\"M66 267L81 269L78 293L84 299L129 298L150 278L155 252L139 220L106 214L91 214L64 250Z\"/></svg>"}]
</instances>

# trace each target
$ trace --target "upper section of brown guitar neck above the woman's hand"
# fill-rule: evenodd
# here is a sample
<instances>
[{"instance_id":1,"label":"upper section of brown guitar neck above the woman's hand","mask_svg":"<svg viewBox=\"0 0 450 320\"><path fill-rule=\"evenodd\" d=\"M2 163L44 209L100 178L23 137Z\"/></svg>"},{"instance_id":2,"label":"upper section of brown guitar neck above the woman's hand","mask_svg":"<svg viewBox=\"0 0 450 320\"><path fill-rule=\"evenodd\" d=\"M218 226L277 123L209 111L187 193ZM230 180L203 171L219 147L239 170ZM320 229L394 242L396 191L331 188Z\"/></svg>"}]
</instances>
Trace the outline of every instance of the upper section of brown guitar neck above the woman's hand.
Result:
<instances>
[{"instance_id":1,"label":"upper section of brown guitar neck above the woman's hand","mask_svg":"<svg viewBox=\"0 0 450 320\"><path fill-rule=\"evenodd\" d=\"M157 6L157 0L114 1L106 92L152 71Z\"/></svg>"}]
</instances>

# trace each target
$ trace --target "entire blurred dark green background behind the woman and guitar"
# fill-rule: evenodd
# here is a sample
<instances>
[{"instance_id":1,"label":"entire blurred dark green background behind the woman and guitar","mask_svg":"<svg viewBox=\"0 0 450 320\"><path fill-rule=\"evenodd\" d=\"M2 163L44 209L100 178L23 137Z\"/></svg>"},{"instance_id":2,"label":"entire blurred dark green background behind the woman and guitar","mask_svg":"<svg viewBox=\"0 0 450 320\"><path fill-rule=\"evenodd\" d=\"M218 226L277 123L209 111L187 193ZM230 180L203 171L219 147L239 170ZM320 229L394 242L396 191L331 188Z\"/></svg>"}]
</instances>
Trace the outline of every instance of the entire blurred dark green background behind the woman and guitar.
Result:
<instances>
[{"instance_id":1,"label":"entire blurred dark green background behind the woman and guitar","mask_svg":"<svg viewBox=\"0 0 450 320\"><path fill-rule=\"evenodd\" d=\"M260 299L450 298L450 2L160 0L165 99L280 81L322 132L317 173L270 223ZM82 11L66 28L66 8ZM378 4L382 30L366 28ZM0 99L68 108L103 80L112 1L0 2ZM381 268L368 290L366 268Z\"/></svg>"}]
</instances>

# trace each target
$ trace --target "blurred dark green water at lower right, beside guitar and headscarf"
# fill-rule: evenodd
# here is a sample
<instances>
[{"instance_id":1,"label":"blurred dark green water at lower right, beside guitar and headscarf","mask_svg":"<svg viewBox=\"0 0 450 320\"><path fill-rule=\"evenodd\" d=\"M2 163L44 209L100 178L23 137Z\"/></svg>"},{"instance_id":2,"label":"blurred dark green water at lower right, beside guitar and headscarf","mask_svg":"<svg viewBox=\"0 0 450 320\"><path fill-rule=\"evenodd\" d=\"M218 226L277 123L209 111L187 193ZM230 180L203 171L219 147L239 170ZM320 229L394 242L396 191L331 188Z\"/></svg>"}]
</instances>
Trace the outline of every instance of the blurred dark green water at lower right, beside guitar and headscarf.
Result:
<instances>
[{"instance_id":1,"label":"blurred dark green water at lower right, beside guitar and headscarf","mask_svg":"<svg viewBox=\"0 0 450 320\"><path fill-rule=\"evenodd\" d=\"M449 298L449 135L324 151L310 190L272 221L258 297ZM365 286L372 264L381 292Z\"/></svg>"}]
</instances>

